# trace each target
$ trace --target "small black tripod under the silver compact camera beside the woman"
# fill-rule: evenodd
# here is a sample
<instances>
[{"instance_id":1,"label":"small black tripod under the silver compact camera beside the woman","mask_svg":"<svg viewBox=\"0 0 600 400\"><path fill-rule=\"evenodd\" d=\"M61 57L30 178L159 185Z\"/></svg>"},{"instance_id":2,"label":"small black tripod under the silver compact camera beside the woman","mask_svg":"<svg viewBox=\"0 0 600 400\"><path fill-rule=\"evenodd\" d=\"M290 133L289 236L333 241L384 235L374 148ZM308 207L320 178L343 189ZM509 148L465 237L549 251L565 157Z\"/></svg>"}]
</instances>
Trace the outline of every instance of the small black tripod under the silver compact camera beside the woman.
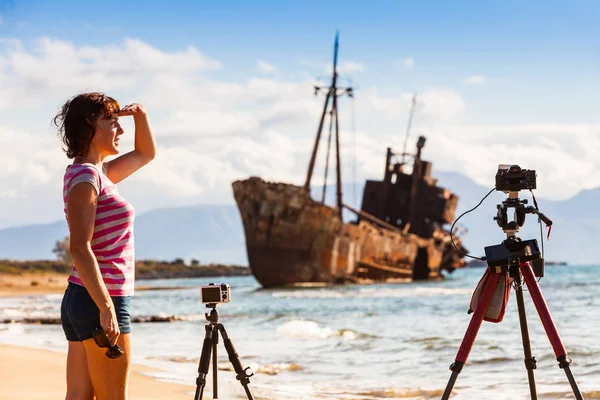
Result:
<instances>
[{"instance_id":1,"label":"small black tripod under the silver compact camera beside the woman","mask_svg":"<svg viewBox=\"0 0 600 400\"><path fill-rule=\"evenodd\" d=\"M213 399L218 399L218 388L217 388L217 344L219 343L219 332L223 336L223 344L225 345L225 350L227 350L227 355L229 356L229 361L233 365L233 369L236 372L236 379L240 381L244 390L246 391L246 395L249 400L254 400L252 397L252 393L250 393L250 389L248 388L248 384L250 383L250 377L254 375L254 373L247 371L250 367L244 369L242 367L242 363L238 357L235 348L233 347L233 343L231 343L231 339L227 335L227 331L223 324L219 322L219 313L217 311L216 303L209 303L206 307L211 308L210 315L205 313L206 319L208 320L208 324L206 324L206 336L204 337L204 343L202 344L202 354L200 356L200 363L198 365L198 378L196 379L196 394L194 395L194 400L201 400L202 394L204 393L204 386L206 385L206 376L208 375L208 368L210 365L210 358L212 353L212 361L213 361Z\"/></svg>"}]
</instances>

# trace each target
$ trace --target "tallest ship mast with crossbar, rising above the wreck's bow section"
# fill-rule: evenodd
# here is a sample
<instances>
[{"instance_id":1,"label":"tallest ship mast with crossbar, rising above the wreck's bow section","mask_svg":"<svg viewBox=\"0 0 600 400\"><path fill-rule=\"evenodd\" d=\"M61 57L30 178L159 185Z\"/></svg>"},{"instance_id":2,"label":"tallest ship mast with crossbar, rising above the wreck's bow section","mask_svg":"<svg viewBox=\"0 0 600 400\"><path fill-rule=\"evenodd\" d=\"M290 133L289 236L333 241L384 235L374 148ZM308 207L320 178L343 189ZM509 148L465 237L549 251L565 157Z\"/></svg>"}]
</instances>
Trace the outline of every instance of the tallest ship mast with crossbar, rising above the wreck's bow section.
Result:
<instances>
[{"instance_id":1,"label":"tallest ship mast with crossbar, rising above the wreck's bow section","mask_svg":"<svg viewBox=\"0 0 600 400\"><path fill-rule=\"evenodd\" d=\"M338 59L338 47L339 47L339 32L335 33L335 43L333 50L333 76L331 78L331 85L329 87L315 86L315 95L320 90L326 89L327 94L325 96L325 104L323 105L323 112L321 113L321 119L319 120L319 128L317 129L317 137L315 138L315 144L308 164L308 172L306 174L306 182L304 183L304 189L310 193L310 181L312 179L313 170L315 168L315 160L317 158L317 151L319 149L319 143L321 141L321 133L323 132L323 123L325 122L325 115L329 113L331 123L335 123L335 153L336 153L336 206L338 208L339 217L342 218L342 172L341 172L341 161L340 161L340 127L338 118L337 99L343 94L347 94L349 97L353 96L353 90L351 87L340 88L337 87L337 59ZM339 92L338 92L339 91ZM331 100L331 110L327 111ZM329 158L329 154L327 154ZM327 179L327 177L325 177ZM323 202L325 199L323 198Z\"/></svg>"}]
</instances>

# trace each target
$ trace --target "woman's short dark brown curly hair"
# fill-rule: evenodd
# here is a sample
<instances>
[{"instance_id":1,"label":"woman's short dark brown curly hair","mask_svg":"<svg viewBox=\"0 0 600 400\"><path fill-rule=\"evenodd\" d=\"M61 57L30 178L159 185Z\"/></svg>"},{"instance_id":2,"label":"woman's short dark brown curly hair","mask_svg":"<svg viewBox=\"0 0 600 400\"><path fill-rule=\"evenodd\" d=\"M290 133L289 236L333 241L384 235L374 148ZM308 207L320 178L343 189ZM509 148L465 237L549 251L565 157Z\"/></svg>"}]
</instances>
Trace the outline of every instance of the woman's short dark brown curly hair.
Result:
<instances>
[{"instance_id":1,"label":"woman's short dark brown curly hair","mask_svg":"<svg viewBox=\"0 0 600 400\"><path fill-rule=\"evenodd\" d=\"M104 113L105 118L119 112L121 106L104 93L81 93L67 100L52 119L58 128L63 150L67 157L85 157L96 132L96 121Z\"/></svg>"}]
</instances>

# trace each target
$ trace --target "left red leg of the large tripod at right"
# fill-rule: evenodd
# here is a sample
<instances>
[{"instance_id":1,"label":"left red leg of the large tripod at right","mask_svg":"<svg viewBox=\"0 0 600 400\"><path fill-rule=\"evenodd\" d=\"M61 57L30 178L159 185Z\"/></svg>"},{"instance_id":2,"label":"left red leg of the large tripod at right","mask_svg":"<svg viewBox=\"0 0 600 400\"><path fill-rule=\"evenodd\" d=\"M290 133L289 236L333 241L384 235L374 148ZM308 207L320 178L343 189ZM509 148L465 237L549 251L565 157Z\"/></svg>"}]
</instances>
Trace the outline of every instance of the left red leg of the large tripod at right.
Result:
<instances>
[{"instance_id":1,"label":"left red leg of the large tripod at right","mask_svg":"<svg viewBox=\"0 0 600 400\"><path fill-rule=\"evenodd\" d=\"M463 366L467 362L467 358L469 357L469 353L473 348L473 343L475 342L477 332L479 332L479 328L481 327L481 322L483 321L485 312L490 304L490 301L492 300L494 290L496 290L496 286L498 286L498 282L500 281L500 277L502 275L503 273L491 273L485 282L485 286L483 287L481 296L479 297L479 302L475 308L473 316L471 317L471 322L469 322L469 326L467 327L467 332L465 333L463 341L460 344L460 348L458 349L458 353L456 354L456 360L450 366L452 375L450 376L450 380L448 381L448 385L446 386L442 400L448 400L450 398L456 378L458 378L458 374L460 374L460 371L462 371Z\"/></svg>"}]
</instances>

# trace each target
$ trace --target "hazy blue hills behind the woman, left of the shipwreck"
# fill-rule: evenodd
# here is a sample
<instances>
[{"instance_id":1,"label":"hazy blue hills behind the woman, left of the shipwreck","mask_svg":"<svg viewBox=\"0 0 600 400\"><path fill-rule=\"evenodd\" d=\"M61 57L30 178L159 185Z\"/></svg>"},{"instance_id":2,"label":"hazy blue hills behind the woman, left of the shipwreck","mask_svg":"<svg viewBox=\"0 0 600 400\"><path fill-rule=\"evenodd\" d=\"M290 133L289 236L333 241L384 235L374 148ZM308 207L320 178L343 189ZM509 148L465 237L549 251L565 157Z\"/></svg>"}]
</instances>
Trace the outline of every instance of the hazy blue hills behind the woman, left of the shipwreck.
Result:
<instances>
[{"instance_id":1,"label":"hazy blue hills behind the woman, left of the shipwreck","mask_svg":"<svg viewBox=\"0 0 600 400\"><path fill-rule=\"evenodd\" d=\"M152 210L136 218L134 230L137 259L196 258L202 263L247 264L244 233L234 205ZM68 234L65 221L1 229L0 258L53 259L54 243Z\"/></svg>"}]
</instances>

